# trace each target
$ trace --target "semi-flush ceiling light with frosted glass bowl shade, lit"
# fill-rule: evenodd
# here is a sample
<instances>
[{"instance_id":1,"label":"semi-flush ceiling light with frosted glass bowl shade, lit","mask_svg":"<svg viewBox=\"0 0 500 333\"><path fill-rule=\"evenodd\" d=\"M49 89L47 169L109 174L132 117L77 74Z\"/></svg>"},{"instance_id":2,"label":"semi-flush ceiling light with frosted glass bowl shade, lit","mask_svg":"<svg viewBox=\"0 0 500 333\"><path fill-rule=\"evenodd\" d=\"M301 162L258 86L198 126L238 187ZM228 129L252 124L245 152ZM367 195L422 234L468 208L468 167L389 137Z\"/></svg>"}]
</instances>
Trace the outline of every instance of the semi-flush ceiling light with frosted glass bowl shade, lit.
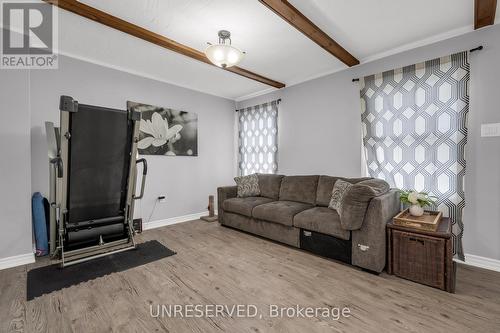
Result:
<instances>
[{"instance_id":1,"label":"semi-flush ceiling light with frosted glass bowl shade, lit","mask_svg":"<svg viewBox=\"0 0 500 333\"><path fill-rule=\"evenodd\" d=\"M227 30L219 31L219 43L209 46L205 50L207 58L218 67L228 68L237 65L245 55L239 49L231 45L231 33ZM229 40L229 43L226 41Z\"/></svg>"}]
</instances>

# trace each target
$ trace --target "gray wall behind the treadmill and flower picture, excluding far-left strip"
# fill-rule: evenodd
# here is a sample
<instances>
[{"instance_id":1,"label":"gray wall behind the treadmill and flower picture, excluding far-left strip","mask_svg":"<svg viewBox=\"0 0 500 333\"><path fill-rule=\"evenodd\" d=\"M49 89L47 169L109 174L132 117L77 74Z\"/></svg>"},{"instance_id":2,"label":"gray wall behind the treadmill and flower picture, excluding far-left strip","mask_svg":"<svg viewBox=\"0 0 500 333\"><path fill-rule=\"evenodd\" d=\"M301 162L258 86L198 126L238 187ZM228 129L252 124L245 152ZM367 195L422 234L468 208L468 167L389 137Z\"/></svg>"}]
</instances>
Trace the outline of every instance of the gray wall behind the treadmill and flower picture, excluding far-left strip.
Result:
<instances>
[{"instance_id":1,"label":"gray wall behind the treadmill and flower picture, excluding far-left strip","mask_svg":"<svg viewBox=\"0 0 500 333\"><path fill-rule=\"evenodd\" d=\"M158 203L151 221L206 210L208 195L233 177L234 102L167 83L60 57L58 70L32 71L31 81L32 190L47 194L48 165L44 122L59 123L59 96L81 103L126 108L127 100L198 113L198 157L145 156L148 178L136 216L144 222Z\"/></svg>"}]
</instances>

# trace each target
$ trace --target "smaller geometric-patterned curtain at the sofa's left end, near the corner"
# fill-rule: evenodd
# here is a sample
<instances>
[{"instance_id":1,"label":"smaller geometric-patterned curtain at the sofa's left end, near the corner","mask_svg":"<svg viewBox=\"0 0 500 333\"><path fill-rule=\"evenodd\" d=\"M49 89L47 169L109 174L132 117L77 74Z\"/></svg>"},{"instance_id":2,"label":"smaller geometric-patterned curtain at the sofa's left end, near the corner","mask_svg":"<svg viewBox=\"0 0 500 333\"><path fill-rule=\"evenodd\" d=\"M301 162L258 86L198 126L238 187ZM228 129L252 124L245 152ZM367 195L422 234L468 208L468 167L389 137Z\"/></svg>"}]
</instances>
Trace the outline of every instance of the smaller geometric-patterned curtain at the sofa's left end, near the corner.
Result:
<instances>
[{"instance_id":1,"label":"smaller geometric-patterned curtain at the sofa's left end, near the corner","mask_svg":"<svg viewBox=\"0 0 500 333\"><path fill-rule=\"evenodd\" d=\"M278 101L238 111L238 169L242 176L278 170Z\"/></svg>"}]
</instances>

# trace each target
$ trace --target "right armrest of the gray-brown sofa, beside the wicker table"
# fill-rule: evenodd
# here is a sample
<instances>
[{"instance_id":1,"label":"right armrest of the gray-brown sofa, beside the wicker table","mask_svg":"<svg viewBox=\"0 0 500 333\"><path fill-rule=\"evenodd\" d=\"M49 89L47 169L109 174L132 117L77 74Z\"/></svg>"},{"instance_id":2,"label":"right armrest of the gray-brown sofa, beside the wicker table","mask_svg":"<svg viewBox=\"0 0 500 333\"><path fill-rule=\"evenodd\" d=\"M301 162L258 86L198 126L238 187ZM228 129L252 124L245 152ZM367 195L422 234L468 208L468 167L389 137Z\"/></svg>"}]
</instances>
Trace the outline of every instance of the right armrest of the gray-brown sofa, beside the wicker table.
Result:
<instances>
[{"instance_id":1,"label":"right armrest of the gray-brown sofa, beside the wicker table","mask_svg":"<svg viewBox=\"0 0 500 333\"><path fill-rule=\"evenodd\" d=\"M381 272L386 261L386 224L401 210L397 190L370 201L363 225L352 232L353 265Z\"/></svg>"}]
</instances>

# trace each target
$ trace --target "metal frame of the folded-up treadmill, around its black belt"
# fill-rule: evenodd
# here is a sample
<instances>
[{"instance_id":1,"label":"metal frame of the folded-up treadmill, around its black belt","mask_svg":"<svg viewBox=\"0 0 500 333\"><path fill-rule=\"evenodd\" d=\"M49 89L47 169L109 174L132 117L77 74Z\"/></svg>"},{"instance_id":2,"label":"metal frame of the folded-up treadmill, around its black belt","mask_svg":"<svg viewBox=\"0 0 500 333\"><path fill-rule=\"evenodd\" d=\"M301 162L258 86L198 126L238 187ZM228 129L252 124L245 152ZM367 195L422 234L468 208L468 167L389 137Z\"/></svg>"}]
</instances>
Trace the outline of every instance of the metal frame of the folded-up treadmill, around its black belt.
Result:
<instances>
[{"instance_id":1,"label":"metal frame of the folded-up treadmill, around its black belt","mask_svg":"<svg viewBox=\"0 0 500 333\"><path fill-rule=\"evenodd\" d=\"M128 163L124 163L124 174L123 178L126 182L123 188L122 200L120 203L120 210L123 211L123 234L120 237L115 237L112 239L106 239L106 242L102 237L98 244L80 242L77 246L72 246L70 239L68 238L68 232L74 231L75 228L95 227L98 225L103 225L109 223L109 225L116 225L117 216L102 216L99 219L90 219L87 221L70 221L70 204L69 204L69 190L70 190L70 152L71 152L71 128L72 128L72 118L73 115L78 112L80 108L87 108L95 110L96 112L107 111L107 112L120 112L127 116L127 155L129 156ZM55 189L55 194L53 199L51 199L52 214L54 218L51 217L51 234L56 234L56 228L58 230L58 242L57 248L51 244L51 254L59 254L62 266L67 266L73 263L82 262L85 260L90 260L92 258L100 257L109 253L121 252L129 249L135 248L134 240L134 229L133 229L133 209L134 209L134 193L136 187L136 156L137 156L137 142L139 140L139 124L141 120L140 112L135 110L117 110L110 108L103 108L92 105L79 105L77 101L69 96L61 96L60 99L60 128L58 129L59 135L57 136L57 163L51 160L51 165L53 165L54 170L51 170L51 175L56 174L57 177L53 181L55 184L51 184L51 189ZM97 113L96 113L97 115ZM96 121L98 117L96 117ZM53 127L52 126L48 126ZM56 129L57 131L57 129ZM50 147L49 147L50 148ZM49 152L50 155L50 152ZM127 159L127 157L125 157ZM145 163L145 162L144 162ZM143 186L145 180L145 173L143 174ZM141 193L143 193L144 188L141 188ZM78 225L78 224L81 225ZM75 245L75 244L73 244ZM119 249L113 250L115 246L121 246Z\"/></svg>"}]
</instances>

